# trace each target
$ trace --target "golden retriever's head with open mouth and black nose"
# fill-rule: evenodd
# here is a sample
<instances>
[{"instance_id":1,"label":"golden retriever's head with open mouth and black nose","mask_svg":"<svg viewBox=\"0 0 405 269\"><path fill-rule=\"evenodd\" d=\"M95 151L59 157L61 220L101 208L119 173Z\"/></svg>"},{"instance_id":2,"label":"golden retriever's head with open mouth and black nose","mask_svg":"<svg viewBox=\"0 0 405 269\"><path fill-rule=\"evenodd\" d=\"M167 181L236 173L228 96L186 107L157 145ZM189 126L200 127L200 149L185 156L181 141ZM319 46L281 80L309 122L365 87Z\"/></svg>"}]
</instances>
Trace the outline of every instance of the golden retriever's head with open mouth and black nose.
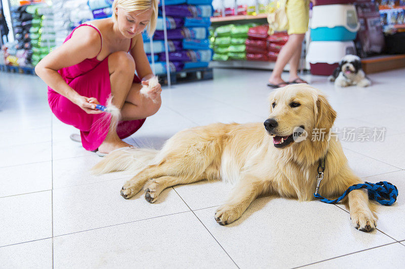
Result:
<instances>
[{"instance_id":1,"label":"golden retriever's head with open mouth and black nose","mask_svg":"<svg viewBox=\"0 0 405 269\"><path fill-rule=\"evenodd\" d=\"M273 136L274 146L285 148L295 142L293 132L297 127L311 134L317 127L322 109L330 114L329 128L332 127L336 113L325 96L307 84L289 85L278 89L270 95L270 115L264 122L269 135ZM335 116L332 114L335 113ZM327 117L326 117L327 118ZM328 119L323 120L328 120ZM328 130L329 131L329 130Z\"/></svg>"}]
</instances>

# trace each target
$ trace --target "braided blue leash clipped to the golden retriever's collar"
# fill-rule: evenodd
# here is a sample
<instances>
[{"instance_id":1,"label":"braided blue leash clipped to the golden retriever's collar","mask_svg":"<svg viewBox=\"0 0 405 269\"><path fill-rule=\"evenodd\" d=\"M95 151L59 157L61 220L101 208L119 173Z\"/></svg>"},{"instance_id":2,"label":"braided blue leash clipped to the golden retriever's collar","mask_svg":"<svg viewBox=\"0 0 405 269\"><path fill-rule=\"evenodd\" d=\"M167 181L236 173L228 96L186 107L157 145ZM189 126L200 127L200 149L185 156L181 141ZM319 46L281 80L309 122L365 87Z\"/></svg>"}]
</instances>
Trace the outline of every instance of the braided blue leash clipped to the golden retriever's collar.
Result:
<instances>
[{"instance_id":1,"label":"braided blue leash clipped to the golden retriever's collar","mask_svg":"<svg viewBox=\"0 0 405 269\"><path fill-rule=\"evenodd\" d=\"M398 189L395 185L386 182L380 181L376 184L366 182L364 184L354 184L353 186L349 187L339 198L335 200L330 200L324 198L318 194L319 184L320 181L323 179L323 171L325 171L325 157L319 160L318 166L318 176L317 176L317 183L316 183L316 190L313 196L325 203L337 203L341 201L349 192L352 190L358 189L367 189L369 192L369 199L374 199L382 205L391 205L396 201L396 197L398 196Z\"/></svg>"}]
</instances>

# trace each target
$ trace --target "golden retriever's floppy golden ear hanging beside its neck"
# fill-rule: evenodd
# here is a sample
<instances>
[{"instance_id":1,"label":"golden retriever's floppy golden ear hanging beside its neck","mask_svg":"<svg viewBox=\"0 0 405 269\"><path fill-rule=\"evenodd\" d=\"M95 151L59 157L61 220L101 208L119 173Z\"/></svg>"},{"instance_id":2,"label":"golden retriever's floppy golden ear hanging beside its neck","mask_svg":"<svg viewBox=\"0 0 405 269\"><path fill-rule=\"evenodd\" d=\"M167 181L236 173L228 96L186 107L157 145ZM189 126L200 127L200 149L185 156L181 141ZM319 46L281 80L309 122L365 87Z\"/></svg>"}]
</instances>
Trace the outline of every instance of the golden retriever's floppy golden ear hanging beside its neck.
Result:
<instances>
[{"instance_id":1,"label":"golden retriever's floppy golden ear hanging beside its neck","mask_svg":"<svg viewBox=\"0 0 405 269\"><path fill-rule=\"evenodd\" d=\"M336 116L336 111L332 108L326 96L318 93L315 104L315 128L325 129L326 132L329 132Z\"/></svg>"}]
</instances>

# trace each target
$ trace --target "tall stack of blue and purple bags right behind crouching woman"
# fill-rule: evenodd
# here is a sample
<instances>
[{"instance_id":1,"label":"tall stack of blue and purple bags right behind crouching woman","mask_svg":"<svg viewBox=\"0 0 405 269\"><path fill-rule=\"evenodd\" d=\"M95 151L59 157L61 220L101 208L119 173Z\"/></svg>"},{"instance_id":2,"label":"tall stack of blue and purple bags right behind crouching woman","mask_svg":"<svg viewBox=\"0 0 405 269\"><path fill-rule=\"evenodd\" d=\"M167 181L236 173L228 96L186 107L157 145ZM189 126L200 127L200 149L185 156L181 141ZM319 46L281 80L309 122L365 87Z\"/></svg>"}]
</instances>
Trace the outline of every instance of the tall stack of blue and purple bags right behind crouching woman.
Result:
<instances>
[{"instance_id":1,"label":"tall stack of blue and purple bags right behind crouching woman","mask_svg":"<svg viewBox=\"0 0 405 269\"><path fill-rule=\"evenodd\" d=\"M161 2L160 2L161 3ZM145 51L158 56L154 64L155 74L166 74L167 56L170 72L194 68L206 68L212 58L209 27L212 16L212 0L166 0L164 21L163 8L159 4L159 17L152 41L145 40ZM164 24L167 27L168 55L165 51Z\"/></svg>"}]
</instances>

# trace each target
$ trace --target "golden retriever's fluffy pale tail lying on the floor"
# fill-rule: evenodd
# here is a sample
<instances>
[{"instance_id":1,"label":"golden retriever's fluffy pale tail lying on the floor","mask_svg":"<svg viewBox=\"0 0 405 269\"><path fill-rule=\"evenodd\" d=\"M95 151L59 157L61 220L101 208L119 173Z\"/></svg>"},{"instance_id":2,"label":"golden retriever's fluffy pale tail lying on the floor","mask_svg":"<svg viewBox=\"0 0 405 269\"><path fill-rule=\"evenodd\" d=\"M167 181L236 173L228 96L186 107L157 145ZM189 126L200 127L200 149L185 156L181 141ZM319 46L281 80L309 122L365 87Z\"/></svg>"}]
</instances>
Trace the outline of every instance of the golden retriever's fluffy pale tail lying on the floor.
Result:
<instances>
[{"instance_id":1,"label":"golden retriever's fluffy pale tail lying on the floor","mask_svg":"<svg viewBox=\"0 0 405 269\"><path fill-rule=\"evenodd\" d=\"M95 175L128 171L134 174L153 164L159 151L149 148L130 148L117 150L106 155L91 171Z\"/></svg>"}]
</instances>

